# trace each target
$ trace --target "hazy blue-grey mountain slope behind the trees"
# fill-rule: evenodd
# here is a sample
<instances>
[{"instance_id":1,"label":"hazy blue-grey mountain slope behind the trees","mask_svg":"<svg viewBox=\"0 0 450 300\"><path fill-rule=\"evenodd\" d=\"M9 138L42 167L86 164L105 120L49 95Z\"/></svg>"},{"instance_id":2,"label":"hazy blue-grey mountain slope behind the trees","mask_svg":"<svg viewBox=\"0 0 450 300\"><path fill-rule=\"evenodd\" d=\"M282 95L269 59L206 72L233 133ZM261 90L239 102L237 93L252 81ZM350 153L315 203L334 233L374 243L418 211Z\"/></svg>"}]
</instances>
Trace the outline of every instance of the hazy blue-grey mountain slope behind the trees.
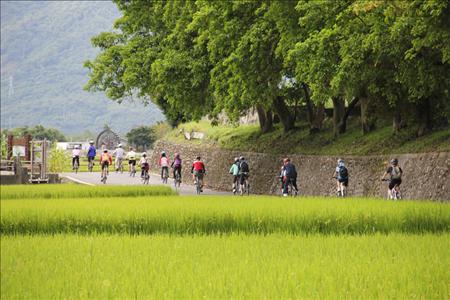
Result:
<instances>
[{"instance_id":1,"label":"hazy blue-grey mountain slope behind the trees","mask_svg":"<svg viewBox=\"0 0 450 300\"><path fill-rule=\"evenodd\" d=\"M109 1L1 1L1 127L77 134L108 124L123 135L163 120L153 104L118 104L83 90L83 62L97 53L90 39L119 16Z\"/></svg>"}]
</instances>

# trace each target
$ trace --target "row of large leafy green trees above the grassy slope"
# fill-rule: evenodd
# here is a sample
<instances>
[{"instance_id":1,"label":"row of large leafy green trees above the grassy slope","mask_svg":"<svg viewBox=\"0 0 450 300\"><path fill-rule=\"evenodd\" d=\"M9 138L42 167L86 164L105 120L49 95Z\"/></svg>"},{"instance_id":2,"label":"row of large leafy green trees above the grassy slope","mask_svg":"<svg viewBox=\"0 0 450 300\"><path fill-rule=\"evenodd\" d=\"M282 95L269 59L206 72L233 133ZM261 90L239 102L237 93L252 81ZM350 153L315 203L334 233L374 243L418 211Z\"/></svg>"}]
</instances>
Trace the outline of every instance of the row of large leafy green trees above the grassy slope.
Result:
<instances>
[{"instance_id":1,"label":"row of large leafy green trees above the grassy slope","mask_svg":"<svg viewBox=\"0 0 450 300\"><path fill-rule=\"evenodd\" d=\"M298 108L334 134L360 107L363 132L379 118L418 135L450 116L450 4L441 0L116 0L114 30L92 38L86 89L115 101L153 101L176 125L256 109L295 129Z\"/></svg>"}]
</instances>

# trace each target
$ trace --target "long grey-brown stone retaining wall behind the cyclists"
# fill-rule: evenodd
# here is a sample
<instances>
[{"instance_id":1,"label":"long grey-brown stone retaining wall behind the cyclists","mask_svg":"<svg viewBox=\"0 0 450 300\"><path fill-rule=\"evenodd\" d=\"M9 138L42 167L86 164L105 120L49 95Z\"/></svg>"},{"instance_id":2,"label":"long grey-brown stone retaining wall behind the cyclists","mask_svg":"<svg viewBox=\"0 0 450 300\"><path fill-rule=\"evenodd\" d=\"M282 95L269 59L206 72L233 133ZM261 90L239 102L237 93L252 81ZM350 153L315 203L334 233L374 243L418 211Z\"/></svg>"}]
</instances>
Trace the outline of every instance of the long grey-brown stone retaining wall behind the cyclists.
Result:
<instances>
[{"instance_id":1,"label":"long grey-brown stone retaining wall behind the cyclists","mask_svg":"<svg viewBox=\"0 0 450 300\"><path fill-rule=\"evenodd\" d=\"M151 153L151 166L157 170L159 154L165 150L170 158L178 152L183 159L183 178L190 177L193 160L200 155L206 164L205 184L218 190L231 190L232 177L228 174L233 159L244 155L250 165L250 184L253 193L277 194L280 182L277 177L282 156L219 150L196 145L177 145L158 141ZM297 183L302 195L333 195L335 180L332 179L337 156L288 155L297 167ZM342 156L350 174L350 196L385 197L387 183L380 177L394 156ZM395 155L404 171L402 193L409 199L450 200L450 153L423 153ZM171 176L172 177L172 176ZM189 179L189 183L190 183Z\"/></svg>"}]
</instances>

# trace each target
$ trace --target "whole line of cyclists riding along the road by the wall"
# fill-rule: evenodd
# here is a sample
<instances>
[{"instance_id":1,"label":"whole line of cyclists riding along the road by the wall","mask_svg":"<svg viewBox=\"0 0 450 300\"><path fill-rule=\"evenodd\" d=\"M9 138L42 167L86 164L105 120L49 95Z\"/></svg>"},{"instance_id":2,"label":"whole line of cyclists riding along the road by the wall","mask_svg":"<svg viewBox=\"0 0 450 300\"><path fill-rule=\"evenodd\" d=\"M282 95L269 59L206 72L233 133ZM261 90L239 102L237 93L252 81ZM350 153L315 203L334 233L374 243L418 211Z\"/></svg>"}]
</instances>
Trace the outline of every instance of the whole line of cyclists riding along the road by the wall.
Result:
<instances>
[{"instance_id":1,"label":"whole line of cyclists riding along the road by the wall","mask_svg":"<svg viewBox=\"0 0 450 300\"><path fill-rule=\"evenodd\" d=\"M90 146L87 151L87 157L89 165L92 166L94 163L97 150L94 146L94 141L89 142ZM72 151L72 166L75 169L76 166L80 164L80 154L81 150L79 146L75 146ZM137 154L133 148L130 147L128 153L125 153L125 150L122 147L122 144L119 144L117 148L109 153L107 149L102 150L99 161L102 170L108 170L108 167L113 163L113 156L115 162L115 170L116 172L123 172L123 161L128 160L128 165L130 168L130 176L134 176L136 173L136 162L137 162ZM147 153L141 153L141 157L139 160L139 166L141 167L141 178L145 178L148 176L148 172L150 169L150 160L147 156ZM163 183L167 183L167 179L169 177L169 168L172 168L172 176L176 180L175 184L178 185L181 183L181 168L182 168L182 160L179 153L175 153L173 157L173 161L170 161L169 156L165 151L162 151L158 160L158 166L161 170L161 179ZM92 168L90 169L92 171ZM234 194L240 193L249 193L250 185L248 183L250 167L249 162L245 159L244 156L236 157L234 159L233 164L230 167L229 173L233 176L233 184L232 191ZM197 156L191 166L191 174L192 179L195 184L199 185L199 189L203 191L203 177L206 174L205 164L202 161L200 156ZM390 199L399 199L400 195L400 185L402 183L402 174L403 170L399 166L398 159L394 158L390 161L390 166L384 172L381 177L382 181L389 181L388 188L388 197ZM389 176L389 179L386 177ZM297 186L297 170L295 165L292 163L290 158L283 159L283 164L280 169L279 178L281 182L280 192L283 196L288 195L297 195L299 192ZM345 165L343 159L338 159L336 168L333 171L333 179L336 180L336 194L337 196L345 197L347 195L348 181L349 181L349 172ZM102 175L103 180L103 175ZM178 181L178 182L177 182Z\"/></svg>"}]
</instances>

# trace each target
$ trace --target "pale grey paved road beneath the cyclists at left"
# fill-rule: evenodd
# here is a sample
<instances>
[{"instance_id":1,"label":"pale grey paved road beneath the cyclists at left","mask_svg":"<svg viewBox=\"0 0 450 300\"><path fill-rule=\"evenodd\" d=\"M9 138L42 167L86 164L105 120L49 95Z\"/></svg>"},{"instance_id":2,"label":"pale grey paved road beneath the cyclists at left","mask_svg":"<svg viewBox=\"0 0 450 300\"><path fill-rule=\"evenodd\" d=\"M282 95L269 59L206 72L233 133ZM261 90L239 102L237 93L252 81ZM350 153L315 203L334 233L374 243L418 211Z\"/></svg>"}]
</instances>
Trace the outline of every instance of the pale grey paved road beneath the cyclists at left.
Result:
<instances>
[{"instance_id":1,"label":"pale grey paved road beneath the cyclists at left","mask_svg":"<svg viewBox=\"0 0 450 300\"><path fill-rule=\"evenodd\" d=\"M62 173L62 177L65 177L71 181L88 184L88 185L103 185L100 181L100 172L79 172L75 173ZM195 195L195 187L193 185L192 178L189 178L190 184L181 183L181 187L179 189L180 195ZM140 178L140 172L136 173L136 177L130 177L128 172L116 173L109 172L108 180L106 182L107 185L142 185L142 181ZM161 177L157 174L150 174L149 185L161 185ZM168 186L172 189L175 189L173 184L173 179L169 178ZM231 192L220 192L214 191L210 189L203 189L203 193L205 195L232 195Z\"/></svg>"}]
</instances>

